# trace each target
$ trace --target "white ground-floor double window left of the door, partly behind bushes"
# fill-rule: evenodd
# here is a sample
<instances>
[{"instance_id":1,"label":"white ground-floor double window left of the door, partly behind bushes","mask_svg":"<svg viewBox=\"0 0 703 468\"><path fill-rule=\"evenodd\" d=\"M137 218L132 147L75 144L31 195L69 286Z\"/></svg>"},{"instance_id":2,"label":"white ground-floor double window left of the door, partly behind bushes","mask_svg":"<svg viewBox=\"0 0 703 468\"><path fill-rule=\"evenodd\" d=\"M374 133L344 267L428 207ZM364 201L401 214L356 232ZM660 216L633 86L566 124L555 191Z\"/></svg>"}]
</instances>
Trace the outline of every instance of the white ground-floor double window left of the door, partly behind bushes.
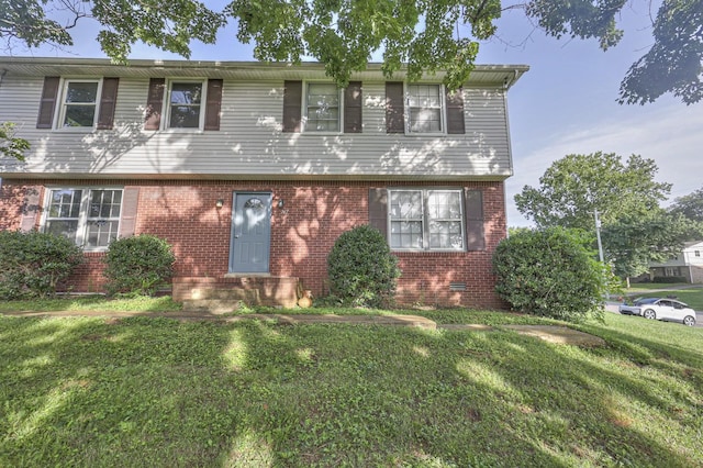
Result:
<instances>
[{"instance_id":1,"label":"white ground-floor double window left of the door, partly behind bushes","mask_svg":"<svg viewBox=\"0 0 703 468\"><path fill-rule=\"evenodd\" d=\"M121 210L120 189L52 189L44 231L87 250L105 249L118 238Z\"/></svg>"}]
</instances>

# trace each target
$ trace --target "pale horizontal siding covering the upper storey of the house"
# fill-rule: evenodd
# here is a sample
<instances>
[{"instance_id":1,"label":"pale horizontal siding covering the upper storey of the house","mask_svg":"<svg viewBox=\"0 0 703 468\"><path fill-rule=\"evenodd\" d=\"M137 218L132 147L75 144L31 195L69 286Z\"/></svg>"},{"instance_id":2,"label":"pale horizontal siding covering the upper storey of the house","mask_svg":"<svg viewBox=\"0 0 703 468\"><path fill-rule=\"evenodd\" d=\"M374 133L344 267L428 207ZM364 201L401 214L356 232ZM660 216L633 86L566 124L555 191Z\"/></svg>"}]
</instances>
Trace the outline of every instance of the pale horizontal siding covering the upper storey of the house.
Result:
<instances>
[{"instance_id":1,"label":"pale horizontal siding covering the upper storey of the house","mask_svg":"<svg viewBox=\"0 0 703 468\"><path fill-rule=\"evenodd\" d=\"M43 78L8 74L0 86L0 122L16 122L18 136L32 148L25 163L1 160L0 172L442 181L500 180L512 174L502 88L465 87L465 134L408 138L386 133L384 81L364 81L364 133L331 136L281 132L282 79L225 79L221 131L175 136L175 131L143 130L148 82L148 77L120 78L114 127L96 138L35 129Z\"/></svg>"}]
</instances>

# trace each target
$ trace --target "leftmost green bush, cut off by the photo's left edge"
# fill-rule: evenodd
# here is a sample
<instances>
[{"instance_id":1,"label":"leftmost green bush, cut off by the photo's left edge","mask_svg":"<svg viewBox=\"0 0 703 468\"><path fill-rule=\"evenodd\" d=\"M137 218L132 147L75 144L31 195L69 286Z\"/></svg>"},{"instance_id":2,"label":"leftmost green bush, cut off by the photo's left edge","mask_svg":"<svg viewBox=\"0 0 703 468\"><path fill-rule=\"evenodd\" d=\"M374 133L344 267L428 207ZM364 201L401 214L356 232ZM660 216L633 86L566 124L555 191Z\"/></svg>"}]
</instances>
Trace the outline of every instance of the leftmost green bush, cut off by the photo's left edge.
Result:
<instances>
[{"instance_id":1,"label":"leftmost green bush, cut off by the photo's left edge","mask_svg":"<svg viewBox=\"0 0 703 468\"><path fill-rule=\"evenodd\" d=\"M64 236L38 231L0 232L0 299L54 296L59 281L82 261Z\"/></svg>"}]
</instances>

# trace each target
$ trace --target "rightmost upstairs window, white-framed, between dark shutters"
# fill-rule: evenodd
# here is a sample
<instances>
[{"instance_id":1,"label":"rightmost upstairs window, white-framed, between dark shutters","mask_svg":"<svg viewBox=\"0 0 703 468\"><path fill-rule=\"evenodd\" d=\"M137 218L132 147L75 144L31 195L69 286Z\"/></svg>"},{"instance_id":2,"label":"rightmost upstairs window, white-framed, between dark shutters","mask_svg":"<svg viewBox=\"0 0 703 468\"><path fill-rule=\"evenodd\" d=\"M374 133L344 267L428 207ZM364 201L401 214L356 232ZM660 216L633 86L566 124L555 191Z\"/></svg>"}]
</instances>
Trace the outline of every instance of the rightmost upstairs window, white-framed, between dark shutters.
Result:
<instances>
[{"instance_id":1,"label":"rightmost upstairs window, white-framed, between dark shutters","mask_svg":"<svg viewBox=\"0 0 703 468\"><path fill-rule=\"evenodd\" d=\"M408 86L408 131L410 133L442 133L443 94L440 85Z\"/></svg>"}]
</instances>

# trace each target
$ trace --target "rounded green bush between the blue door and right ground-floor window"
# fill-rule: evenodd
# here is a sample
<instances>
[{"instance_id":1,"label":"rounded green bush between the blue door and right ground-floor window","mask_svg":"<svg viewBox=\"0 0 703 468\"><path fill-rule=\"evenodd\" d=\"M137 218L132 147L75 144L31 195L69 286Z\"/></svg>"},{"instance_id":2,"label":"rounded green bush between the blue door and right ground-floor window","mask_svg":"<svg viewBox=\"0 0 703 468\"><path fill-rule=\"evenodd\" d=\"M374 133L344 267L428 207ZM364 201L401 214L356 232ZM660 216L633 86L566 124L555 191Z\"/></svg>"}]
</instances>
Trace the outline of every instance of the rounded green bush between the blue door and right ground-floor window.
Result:
<instances>
[{"instance_id":1,"label":"rounded green bush between the blue door and right ground-floor window","mask_svg":"<svg viewBox=\"0 0 703 468\"><path fill-rule=\"evenodd\" d=\"M345 305L379 308L395 296L398 258L369 225L343 233L327 256L331 293Z\"/></svg>"}]
</instances>

